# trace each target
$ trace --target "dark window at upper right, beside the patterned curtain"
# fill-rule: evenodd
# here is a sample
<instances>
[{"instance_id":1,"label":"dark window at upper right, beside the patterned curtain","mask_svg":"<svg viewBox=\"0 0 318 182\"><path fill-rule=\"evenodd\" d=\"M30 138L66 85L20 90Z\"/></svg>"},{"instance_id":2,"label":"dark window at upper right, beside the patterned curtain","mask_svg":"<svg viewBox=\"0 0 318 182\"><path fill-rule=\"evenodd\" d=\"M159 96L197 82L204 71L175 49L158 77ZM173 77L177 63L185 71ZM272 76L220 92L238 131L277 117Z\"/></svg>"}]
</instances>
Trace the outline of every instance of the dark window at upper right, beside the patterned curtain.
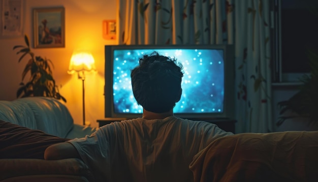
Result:
<instances>
[{"instance_id":1,"label":"dark window at upper right, beside the patterned curtain","mask_svg":"<svg viewBox=\"0 0 318 182\"><path fill-rule=\"evenodd\" d=\"M294 82L309 73L307 51L318 52L318 1L275 0L273 82Z\"/></svg>"}]
</instances>

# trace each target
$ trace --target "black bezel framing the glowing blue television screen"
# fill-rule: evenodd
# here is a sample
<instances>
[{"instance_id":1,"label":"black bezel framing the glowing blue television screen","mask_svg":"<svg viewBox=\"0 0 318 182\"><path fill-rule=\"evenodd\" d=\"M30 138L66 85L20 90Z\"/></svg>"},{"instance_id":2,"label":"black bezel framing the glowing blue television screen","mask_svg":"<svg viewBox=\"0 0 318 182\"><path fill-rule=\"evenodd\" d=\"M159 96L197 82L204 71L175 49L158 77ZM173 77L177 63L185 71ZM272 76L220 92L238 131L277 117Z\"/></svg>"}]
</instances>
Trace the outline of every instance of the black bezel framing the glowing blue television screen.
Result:
<instances>
[{"instance_id":1,"label":"black bezel framing the glowing blue television screen","mask_svg":"<svg viewBox=\"0 0 318 182\"><path fill-rule=\"evenodd\" d=\"M200 120L206 118L229 119L235 114L235 75L234 75L234 46L233 45L105 45L105 117L138 118L142 114L115 113L113 105L113 50L115 49L221 49L224 51L225 63L225 93L224 112L221 113L175 113L177 117Z\"/></svg>"}]
</instances>

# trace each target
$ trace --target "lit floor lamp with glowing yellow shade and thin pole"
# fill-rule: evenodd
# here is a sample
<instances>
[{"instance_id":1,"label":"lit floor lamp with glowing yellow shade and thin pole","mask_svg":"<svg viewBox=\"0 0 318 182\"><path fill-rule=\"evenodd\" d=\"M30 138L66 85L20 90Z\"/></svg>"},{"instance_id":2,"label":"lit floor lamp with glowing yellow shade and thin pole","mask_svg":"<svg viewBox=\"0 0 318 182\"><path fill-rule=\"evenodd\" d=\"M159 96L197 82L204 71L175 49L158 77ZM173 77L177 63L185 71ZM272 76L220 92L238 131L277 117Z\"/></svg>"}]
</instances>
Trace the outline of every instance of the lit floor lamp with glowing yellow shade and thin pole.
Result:
<instances>
[{"instance_id":1,"label":"lit floor lamp with glowing yellow shade and thin pole","mask_svg":"<svg viewBox=\"0 0 318 182\"><path fill-rule=\"evenodd\" d=\"M95 61L91 53L89 51L74 51L71 57L68 73L73 74L77 72L78 78L82 80L83 125L85 125L85 89L84 89L85 72L91 72L91 71L96 71Z\"/></svg>"}]
</instances>

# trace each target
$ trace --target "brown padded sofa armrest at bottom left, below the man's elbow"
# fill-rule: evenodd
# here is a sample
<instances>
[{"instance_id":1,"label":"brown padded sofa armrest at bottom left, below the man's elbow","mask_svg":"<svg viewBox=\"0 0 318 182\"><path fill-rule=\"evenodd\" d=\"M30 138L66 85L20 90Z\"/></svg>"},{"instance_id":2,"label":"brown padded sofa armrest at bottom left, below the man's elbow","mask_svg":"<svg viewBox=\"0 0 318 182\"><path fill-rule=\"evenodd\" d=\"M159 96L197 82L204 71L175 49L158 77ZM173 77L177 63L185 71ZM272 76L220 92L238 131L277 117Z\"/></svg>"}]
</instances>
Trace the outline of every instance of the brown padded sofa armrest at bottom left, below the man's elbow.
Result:
<instances>
[{"instance_id":1,"label":"brown padded sofa armrest at bottom left, below the man's elbow","mask_svg":"<svg viewBox=\"0 0 318 182\"><path fill-rule=\"evenodd\" d=\"M74 175L93 181L87 165L79 159L0 159L0 180L28 175Z\"/></svg>"}]
</instances>

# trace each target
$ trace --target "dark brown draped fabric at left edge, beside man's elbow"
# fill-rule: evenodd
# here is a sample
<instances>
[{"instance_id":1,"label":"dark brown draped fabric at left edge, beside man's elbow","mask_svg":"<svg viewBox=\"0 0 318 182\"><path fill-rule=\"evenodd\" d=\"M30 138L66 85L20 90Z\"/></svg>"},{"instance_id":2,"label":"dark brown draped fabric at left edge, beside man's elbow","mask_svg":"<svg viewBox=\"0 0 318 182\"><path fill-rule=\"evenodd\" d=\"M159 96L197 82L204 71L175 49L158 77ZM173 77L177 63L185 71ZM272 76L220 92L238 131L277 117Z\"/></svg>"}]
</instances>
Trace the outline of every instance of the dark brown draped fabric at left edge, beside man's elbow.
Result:
<instances>
[{"instance_id":1,"label":"dark brown draped fabric at left edge, beside man's elbow","mask_svg":"<svg viewBox=\"0 0 318 182\"><path fill-rule=\"evenodd\" d=\"M44 159L48 146L67 140L0 120L0 159Z\"/></svg>"}]
</instances>

